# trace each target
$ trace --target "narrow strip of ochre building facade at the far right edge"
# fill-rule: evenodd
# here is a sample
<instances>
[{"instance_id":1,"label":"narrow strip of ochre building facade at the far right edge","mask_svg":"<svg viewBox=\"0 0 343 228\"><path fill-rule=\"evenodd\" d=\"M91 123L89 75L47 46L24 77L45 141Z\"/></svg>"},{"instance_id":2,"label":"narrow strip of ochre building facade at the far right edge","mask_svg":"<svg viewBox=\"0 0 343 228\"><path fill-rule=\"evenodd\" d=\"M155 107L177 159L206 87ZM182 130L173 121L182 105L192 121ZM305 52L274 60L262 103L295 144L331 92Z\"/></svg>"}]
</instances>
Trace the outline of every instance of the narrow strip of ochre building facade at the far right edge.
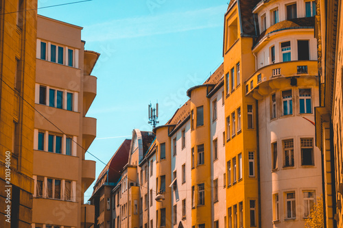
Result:
<instances>
[{"instance_id":1,"label":"narrow strip of ochre building facade at the far right edge","mask_svg":"<svg viewBox=\"0 0 343 228\"><path fill-rule=\"evenodd\" d=\"M322 151L324 226L343 227L342 218L342 2L317 1L316 38L320 103L316 144Z\"/></svg>"}]
</instances>

